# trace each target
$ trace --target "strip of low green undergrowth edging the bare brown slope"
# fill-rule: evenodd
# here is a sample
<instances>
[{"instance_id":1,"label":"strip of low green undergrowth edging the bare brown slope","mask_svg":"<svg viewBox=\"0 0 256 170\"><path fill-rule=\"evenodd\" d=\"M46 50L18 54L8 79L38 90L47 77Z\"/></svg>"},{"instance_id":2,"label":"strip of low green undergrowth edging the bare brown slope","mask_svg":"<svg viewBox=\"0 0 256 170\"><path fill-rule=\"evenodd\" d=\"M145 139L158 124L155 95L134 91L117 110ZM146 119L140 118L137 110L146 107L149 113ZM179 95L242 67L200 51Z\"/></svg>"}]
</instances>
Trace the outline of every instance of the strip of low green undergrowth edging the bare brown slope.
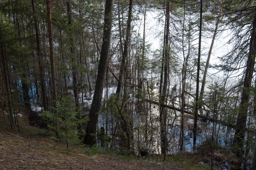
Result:
<instances>
[{"instance_id":1,"label":"strip of low green undergrowth edging the bare brown slope","mask_svg":"<svg viewBox=\"0 0 256 170\"><path fill-rule=\"evenodd\" d=\"M94 158L108 158L111 160L123 160L123 161L140 161L140 162L149 162L151 164L171 164L174 167L183 167L189 170L207 170L210 169L206 165L199 164L201 162L200 156L195 153L180 153L175 155L166 156L166 161L162 162L161 155L151 154L148 157L138 157L135 155L120 154L115 150L103 150L100 146L94 145L93 147L87 147L83 144L72 145L70 148L67 148L64 143L53 141L50 139L54 133L47 133L47 130L40 129L38 127L33 127L29 125L27 120L26 113L23 113L22 117L19 117L19 132L17 127L10 128L8 120L3 122L3 115L0 115L0 131L6 133L15 133L19 136L23 136L26 139L40 139L42 144L35 146L37 150L44 150L50 154L58 155L70 155L71 153L79 154L83 157L88 157L90 159ZM29 140L30 140L29 139Z\"/></svg>"}]
</instances>

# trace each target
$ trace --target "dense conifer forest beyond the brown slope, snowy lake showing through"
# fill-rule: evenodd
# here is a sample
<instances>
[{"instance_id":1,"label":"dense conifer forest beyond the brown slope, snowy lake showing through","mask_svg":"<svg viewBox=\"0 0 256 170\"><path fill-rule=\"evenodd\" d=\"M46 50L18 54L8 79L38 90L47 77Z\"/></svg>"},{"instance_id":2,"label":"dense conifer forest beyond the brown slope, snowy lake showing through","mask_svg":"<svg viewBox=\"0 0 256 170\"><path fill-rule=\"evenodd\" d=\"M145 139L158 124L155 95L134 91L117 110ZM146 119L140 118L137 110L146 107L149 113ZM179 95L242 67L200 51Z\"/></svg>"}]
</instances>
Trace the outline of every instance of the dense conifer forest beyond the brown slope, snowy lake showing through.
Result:
<instances>
[{"instance_id":1,"label":"dense conifer forest beyond the brown slope, snowy lake showing through","mask_svg":"<svg viewBox=\"0 0 256 170\"><path fill-rule=\"evenodd\" d=\"M256 170L255 0L1 0L0 48L0 126Z\"/></svg>"}]
</instances>

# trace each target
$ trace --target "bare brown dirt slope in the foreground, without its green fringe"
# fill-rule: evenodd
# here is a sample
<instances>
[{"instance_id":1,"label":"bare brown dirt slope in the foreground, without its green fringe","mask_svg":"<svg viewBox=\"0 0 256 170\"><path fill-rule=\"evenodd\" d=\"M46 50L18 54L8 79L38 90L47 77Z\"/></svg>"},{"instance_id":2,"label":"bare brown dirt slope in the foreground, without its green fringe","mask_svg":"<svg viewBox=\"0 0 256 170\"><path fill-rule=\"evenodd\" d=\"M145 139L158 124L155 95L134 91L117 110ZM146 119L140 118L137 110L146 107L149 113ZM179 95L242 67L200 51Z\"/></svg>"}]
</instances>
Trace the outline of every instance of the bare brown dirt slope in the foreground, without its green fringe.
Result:
<instances>
[{"instance_id":1,"label":"bare brown dirt slope in the foreground, without its green fringe","mask_svg":"<svg viewBox=\"0 0 256 170\"><path fill-rule=\"evenodd\" d=\"M49 137L25 138L0 131L1 170L186 170L169 164L125 161L68 151Z\"/></svg>"}]
</instances>

